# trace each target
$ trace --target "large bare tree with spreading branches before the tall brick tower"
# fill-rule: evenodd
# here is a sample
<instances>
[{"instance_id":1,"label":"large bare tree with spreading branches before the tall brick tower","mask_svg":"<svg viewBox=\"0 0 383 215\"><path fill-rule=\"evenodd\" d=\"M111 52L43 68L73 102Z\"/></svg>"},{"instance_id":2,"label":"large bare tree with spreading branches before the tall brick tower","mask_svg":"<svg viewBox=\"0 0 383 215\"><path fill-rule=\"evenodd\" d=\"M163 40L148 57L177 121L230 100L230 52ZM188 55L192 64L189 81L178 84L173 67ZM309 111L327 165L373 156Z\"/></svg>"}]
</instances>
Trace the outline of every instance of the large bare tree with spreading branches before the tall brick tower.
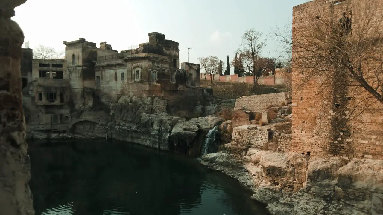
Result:
<instances>
[{"instance_id":1,"label":"large bare tree with spreading branches before the tall brick tower","mask_svg":"<svg viewBox=\"0 0 383 215\"><path fill-rule=\"evenodd\" d=\"M293 91L310 83L319 86L321 110L315 121L332 111L332 121L337 121L332 124L353 126L362 113L383 103L383 18L376 10L380 1L347 1L336 7L312 3L316 14L301 15L307 23L296 23L294 34L277 31L275 38L292 47Z\"/></svg>"}]
</instances>

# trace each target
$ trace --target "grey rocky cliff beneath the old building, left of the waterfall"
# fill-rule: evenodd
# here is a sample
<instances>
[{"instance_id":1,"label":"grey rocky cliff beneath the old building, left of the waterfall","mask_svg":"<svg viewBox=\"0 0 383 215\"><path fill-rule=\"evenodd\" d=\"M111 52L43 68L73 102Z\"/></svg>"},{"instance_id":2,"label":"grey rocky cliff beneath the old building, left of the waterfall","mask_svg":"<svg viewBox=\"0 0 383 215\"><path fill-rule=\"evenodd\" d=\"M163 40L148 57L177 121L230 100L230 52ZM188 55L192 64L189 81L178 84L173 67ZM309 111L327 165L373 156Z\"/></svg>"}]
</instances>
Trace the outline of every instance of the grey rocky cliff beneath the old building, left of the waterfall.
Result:
<instances>
[{"instance_id":1,"label":"grey rocky cliff beneath the old building, left of the waterfall","mask_svg":"<svg viewBox=\"0 0 383 215\"><path fill-rule=\"evenodd\" d=\"M211 114L234 104L235 100L208 98L204 105L182 104L176 109L159 97L121 96L108 109L80 112L68 132L29 131L28 137L105 138L108 135L108 138L196 156L207 132L224 121ZM196 118L179 117L186 116L182 114L185 109L192 109L187 116Z\"/></svg>"}]
</instances>

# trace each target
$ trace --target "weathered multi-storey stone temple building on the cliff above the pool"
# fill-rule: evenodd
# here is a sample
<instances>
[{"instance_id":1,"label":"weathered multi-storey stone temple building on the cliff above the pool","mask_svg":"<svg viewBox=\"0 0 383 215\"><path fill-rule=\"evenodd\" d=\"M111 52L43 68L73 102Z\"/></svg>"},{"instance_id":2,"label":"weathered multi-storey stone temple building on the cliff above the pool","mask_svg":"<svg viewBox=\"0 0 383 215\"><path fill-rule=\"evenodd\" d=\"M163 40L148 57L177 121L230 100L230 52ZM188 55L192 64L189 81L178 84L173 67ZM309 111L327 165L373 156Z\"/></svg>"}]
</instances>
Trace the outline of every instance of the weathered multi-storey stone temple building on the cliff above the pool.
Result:
<instances>
[{"instance_id":1,"label":"weathered multi-storey stone temple building on the cliff above the pool","mask_svg":"<svg viewBox=\"0 0 383 215\"><path fill-rule=\"evenodd\" d=\"M79 119L83 110L108 106L121 95L161 96L176 102L202 92L200 65L180 64L178 42L164 34L149 33L148 42L121 52L106 42L97 47L84 38L63 43L65 59L32 59L33 50L23 49L28 132L68 131L84 120Z\"/></svg>"}]
</instances>

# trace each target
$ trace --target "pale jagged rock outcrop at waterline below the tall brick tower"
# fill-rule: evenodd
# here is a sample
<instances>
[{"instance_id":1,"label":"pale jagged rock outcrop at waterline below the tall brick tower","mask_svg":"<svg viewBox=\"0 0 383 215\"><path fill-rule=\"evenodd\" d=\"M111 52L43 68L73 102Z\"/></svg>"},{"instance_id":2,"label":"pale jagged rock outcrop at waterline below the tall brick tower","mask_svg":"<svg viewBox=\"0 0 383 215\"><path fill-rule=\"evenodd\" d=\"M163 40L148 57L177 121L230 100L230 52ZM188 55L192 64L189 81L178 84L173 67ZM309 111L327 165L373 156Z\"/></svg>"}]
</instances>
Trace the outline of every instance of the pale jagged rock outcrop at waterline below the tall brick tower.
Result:
<instances>
[{"instance_id":1,"label":"pale jagged rock outcrop at waterline below the tall brick tower","mask_svg":"<svg viewBox=\"0 0 383 215\"><path fill-rule=\"evenodd\" d=\"M274 215L383 214L383 161L250 148L242 159L219 152L201 162L246 184Z\"/></svg>"}]
</instances>

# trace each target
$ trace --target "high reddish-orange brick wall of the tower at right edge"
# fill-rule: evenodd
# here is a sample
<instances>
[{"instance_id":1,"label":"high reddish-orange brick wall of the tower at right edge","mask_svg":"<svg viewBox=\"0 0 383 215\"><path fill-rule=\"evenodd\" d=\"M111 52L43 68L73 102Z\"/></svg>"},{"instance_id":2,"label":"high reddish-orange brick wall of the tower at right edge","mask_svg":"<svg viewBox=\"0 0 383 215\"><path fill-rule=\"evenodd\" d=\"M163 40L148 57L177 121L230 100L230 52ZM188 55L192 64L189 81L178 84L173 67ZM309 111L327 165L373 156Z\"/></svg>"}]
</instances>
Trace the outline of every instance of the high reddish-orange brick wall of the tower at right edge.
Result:
<instances>
[{"instance_id":1,"label":"high reddish-orange brick wall of the tower at right edge","mask_svg":"<svg viewBox=\"0 0 383 215\"><path fill-rule=\"evenodd\" d=\"M360 14L360 11L363 10L355 8L355 5L364 5L368 2L378 3L379 6L374 8L377 10L375 14L376 17L381 17L383 5L380 0L350 0L331 7L334 14L339 17L341 17L342 11L352 10L352 17L356 19L358 16L363 16ZM304 29L313 23L311 20L315 16L318 16L318 3L322 5L324 10L328 10L331 4L325 4L322 0L315 0L293 8L293 41L305 41L303 38ZM354 23L358 22L353 21L352 23L352 29L357 29ZM296 56L297 54L293 52L293 60ZM370 62L370 65L373 64ZM368 73L369 67L365 68L367 68L366 73ZM365 98L370 95L363 88L349 87L342 94L343 97L352 95L353 103L349 104L349 108L352 109L354 104L364 107L368 105L369 108L368 111L360 114L360 117L353 118L352 121L349 120L345 125L339 126L340 124L337 123L339 121L338 113L347 114L349 110L336 109L334 102L326 100L325 97L326 94L337 95L338 89L335 89L334 86L322 86L321 83L329 81L324 77L321 77L322 80L320 81L311 80L303 88L298 88L298 83L304 78L304 72L304 68L292 68L293 137L290 151L301 153L310 151L312 156L320 157L339 155L348 158L383 159L382 104L374 103L373 100L365 101ZM334 77L336 78L336 75ZM362 109L356 109L356 111L362 111Z\"/></svg>"}]
</instances>

